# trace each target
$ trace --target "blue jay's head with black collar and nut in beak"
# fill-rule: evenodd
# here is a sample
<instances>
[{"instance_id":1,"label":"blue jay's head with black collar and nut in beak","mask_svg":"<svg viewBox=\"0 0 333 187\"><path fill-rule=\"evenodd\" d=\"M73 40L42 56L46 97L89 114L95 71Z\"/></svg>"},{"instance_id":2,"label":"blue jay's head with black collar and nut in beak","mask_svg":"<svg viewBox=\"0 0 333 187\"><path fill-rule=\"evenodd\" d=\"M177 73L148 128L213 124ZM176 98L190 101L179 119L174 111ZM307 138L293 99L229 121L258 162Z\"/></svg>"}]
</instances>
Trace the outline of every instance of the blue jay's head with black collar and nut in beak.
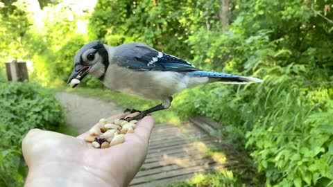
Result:
<instances>
[{"instance_id":1,"label":"blue jay's head with black collar and nut in beak","mask_svg":"<svg viewBox=\"0 0 333 187\"><path fill-rule=\"evenodd\" d=\"M74 57L74 70L69 76L67 84L74 78L83 80L87 74L91 74L102 80L108 65L108 51L105 46L101 42L89 42L76 53ZM74 87L77 85L75 84Z\"/></svg>"}]
</instances>

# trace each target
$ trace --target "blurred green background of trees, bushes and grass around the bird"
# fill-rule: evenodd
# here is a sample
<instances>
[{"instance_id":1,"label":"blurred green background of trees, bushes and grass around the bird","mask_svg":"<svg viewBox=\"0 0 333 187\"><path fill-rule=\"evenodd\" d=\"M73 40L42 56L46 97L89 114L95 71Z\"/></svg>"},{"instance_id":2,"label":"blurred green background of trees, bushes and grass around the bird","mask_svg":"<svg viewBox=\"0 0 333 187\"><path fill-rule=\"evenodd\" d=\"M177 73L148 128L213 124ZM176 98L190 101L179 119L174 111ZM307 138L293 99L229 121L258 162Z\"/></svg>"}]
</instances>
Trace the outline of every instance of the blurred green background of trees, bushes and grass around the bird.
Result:
<instances>
[{"instance_id":1,"label":"blurred green background of trees, bushes and grass around the bird","mask_svg":"<svg viewBox=\"0 0 333 187\"><path fill-rule=\"evenodd\" d=\"M230 180L216 173L175 186L333 186L332 8L330 0L0 1L0 186L23 185L28 130L76 134L57 92L137 109L158 103L106 91L91 77L67 89L74 55L92 40L144 42L201 69L264 79L189 89L154 114L157 122L211 118L221 124L214 136L248 158ZM28 81L8 82L13 60L26 62Z\"/></svg>"}]
</instances>

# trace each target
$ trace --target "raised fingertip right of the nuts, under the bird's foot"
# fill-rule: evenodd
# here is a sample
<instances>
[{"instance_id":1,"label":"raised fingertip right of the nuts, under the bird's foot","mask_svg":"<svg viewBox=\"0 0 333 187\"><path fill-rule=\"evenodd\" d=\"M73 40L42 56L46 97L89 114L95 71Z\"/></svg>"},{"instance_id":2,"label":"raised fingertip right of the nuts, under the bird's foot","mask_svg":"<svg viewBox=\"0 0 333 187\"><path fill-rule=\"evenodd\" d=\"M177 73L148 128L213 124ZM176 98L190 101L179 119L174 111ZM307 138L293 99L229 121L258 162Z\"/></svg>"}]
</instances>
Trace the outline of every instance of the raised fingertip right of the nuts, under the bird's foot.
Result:
<instances>
[{"instance_id":1,"label":"raised fingertip right of the nuts, under the bird's foot","mask_svg":"<svg viewBox=\"0 0 333 187\"><path fill-rule=\"evenodd\" d=\"M135 128L135 134L148 142L149 137L151 136L151 131L153 130L153 126L153 117L145 116L141 121L137 123L137 127Z\"/></svg>"}]
</instances>

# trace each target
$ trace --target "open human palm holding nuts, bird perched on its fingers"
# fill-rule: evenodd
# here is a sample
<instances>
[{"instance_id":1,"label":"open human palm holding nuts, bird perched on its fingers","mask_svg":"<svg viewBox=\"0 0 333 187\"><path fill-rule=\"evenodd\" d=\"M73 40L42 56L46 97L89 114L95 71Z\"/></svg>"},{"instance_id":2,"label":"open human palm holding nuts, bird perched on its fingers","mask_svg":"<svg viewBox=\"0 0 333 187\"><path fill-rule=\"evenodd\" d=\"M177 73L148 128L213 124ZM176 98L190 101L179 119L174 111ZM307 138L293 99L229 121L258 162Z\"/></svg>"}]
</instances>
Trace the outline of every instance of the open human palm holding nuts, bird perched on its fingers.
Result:
<instances>
[{"instance_id":1,"label":"open human palm holding nuts, bird perched on its fingers","mask_svg":"<svg viewBox=\"0 0 333 187\"><path fill-rule=\"evenodd\" d=\"M153 118L146 116L133 134L125 135L124 143L106 149L85 142L88 132L73 137L31 130L22 142L29 169L25 186L128 186L146 159L152 129Z\"/></svg>"}]
</instances>

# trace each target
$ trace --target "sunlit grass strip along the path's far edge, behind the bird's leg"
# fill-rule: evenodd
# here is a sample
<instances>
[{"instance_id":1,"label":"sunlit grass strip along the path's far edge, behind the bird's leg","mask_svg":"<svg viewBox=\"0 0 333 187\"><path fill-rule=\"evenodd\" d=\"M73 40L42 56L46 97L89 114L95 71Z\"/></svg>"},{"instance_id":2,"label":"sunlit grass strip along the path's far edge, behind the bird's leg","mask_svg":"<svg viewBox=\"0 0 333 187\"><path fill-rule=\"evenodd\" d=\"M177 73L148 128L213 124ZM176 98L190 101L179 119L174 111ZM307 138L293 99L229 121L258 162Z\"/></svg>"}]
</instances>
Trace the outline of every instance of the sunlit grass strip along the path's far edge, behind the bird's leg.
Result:
<instances>
[{"instance_id":1,"label":"sunlit grass strip along the path's far edge, behind the bird's leg","mask_svg":"<svg viewBox=\"0 0 333 187\"><path fill-rule=\"evenodd\" d=\"M103 88L92 89L88 87L76 87L75 89L71 89L70 87L57 87L55 90L75 93L79 94L80 96L87 96L90 98L98 98L100 100L109 102L112 101L123 109L130 108L144 110L160 104L160 100L144 100ZM156 123L173 123L175 125L180 124L180 118L176 114L176 109L172 108L172 105L169 109L153 112L152 116Z\"/></svg>"}]
</instances>

